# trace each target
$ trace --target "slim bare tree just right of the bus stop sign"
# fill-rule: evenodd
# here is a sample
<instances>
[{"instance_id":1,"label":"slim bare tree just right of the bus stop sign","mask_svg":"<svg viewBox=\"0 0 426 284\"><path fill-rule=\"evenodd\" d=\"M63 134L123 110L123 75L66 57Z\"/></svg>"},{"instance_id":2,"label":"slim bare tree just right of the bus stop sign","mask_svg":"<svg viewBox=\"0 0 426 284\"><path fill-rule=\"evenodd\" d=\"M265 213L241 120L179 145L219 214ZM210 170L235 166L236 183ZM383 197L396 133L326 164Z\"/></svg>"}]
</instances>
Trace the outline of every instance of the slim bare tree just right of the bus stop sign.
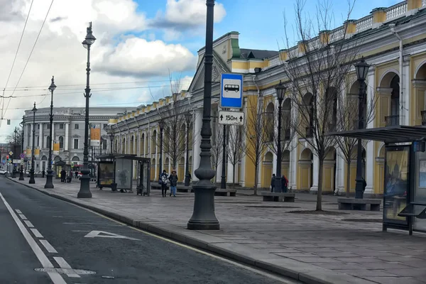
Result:
<instances>
[{"instance_id":1,"label":"slim bare tree just right of the bus stop sign","mask_svg":"<svg viewBox=\"0 0 426 284\"><path fill-rule=\"evenodd\" d=\"M251 104L248 104L251 107L247 107L247 121L246 128L244 129L244 134L246 138L246 143L244 146L244 153L246 157L251 160L254 165L254 195L257 195L257 186L258 186L258 168L261 163L261 155L268 148L266 141L266 131L263 125L263 119L265 113L263 111L263 97L262 94L256 97L248 97L248 100L252 100ZM257 99L257 102L255 101Z\"/></svg>"}]
</instances>

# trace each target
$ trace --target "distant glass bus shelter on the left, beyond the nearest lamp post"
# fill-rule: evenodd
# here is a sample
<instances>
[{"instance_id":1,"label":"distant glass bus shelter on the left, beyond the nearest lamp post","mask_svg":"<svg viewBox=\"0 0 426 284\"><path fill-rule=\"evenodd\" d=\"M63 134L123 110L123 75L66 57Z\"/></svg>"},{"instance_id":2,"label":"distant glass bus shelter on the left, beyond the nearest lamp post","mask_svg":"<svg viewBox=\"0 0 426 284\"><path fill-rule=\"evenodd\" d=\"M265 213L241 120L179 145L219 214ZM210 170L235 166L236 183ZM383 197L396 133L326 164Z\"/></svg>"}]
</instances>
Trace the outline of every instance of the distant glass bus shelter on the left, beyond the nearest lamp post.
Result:
<instances>
[{"instance_id":1,"label":"distant glass bus shelter on the left, beyond the nearest lamp post","mask_svg":"<svg viewBox=\"0 0 426 284\"><path fill-rule=\"evenodd\" d=\"M112 191L133 191L133 180L139 195L150 195L151 159L136 155L108 154L99 155L97 187L110 187ZM133 179L133 164L137 162L136 178Z\"/></svg>"}]
</instances>

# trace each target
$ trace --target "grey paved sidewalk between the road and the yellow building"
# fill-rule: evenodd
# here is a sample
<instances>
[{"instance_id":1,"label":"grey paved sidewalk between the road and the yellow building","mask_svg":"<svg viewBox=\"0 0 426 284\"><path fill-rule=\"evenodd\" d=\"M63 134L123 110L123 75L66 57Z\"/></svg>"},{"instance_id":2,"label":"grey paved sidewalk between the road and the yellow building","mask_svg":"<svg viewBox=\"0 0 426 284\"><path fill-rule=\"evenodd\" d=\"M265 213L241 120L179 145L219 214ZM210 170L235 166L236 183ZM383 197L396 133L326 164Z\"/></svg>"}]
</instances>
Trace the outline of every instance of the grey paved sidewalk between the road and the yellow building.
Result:
<instances>
[{"instance_id":1,"label":"grey paved sidewalk between the road and the yellow building","mask_svg":"<svg viewBox=\"0 0 426 284\"><path fill-rule=\"evenodd\" d=\"M291 213L315 209L315 195L297 194L294 203L262 202L262 197L239 194L216 197L221 229L189 231L186 225L192 215L193 193L163 198L154 190L150 197L141 197L101 191L92 185L93 197L79 200L79 182L54 182L54 190L45 190L40 178L31 186L133 226L303 283L426 283L425 236L382 232L382 212L339 211L337 197L324 196L323 209L346 214ZM28 179L23 184L28 186Z\"/></svg>"}]
</instances>

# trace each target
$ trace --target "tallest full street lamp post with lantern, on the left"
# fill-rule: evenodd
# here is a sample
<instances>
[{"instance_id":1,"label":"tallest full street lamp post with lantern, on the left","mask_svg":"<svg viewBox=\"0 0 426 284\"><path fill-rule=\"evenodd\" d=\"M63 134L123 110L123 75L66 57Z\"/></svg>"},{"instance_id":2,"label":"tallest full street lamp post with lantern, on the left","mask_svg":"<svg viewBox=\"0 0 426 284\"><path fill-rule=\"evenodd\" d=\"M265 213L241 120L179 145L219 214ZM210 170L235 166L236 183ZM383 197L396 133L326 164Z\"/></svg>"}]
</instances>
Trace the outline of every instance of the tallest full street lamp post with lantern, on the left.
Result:
<instances>
[{"instance_id":1,"label":"tallest full street lamp post with lantern, on the left","mask_svg":"<svg viewBox=\"0 0 426 284\"><path fill-rule=\"evenodd\" d=\"M86 38L82 42L84 48L87 48L87 67L86 67L86 89L84 89L86 98L86 114L84 119L84 151L83 151L83 169L82 177L80 178L80 191L77 198L90 198L90 177L89 177L89 98L90 94L90 46L94 43L96 38L92 34L92 22L87 27Z\"/></svg>"}]
</instances>

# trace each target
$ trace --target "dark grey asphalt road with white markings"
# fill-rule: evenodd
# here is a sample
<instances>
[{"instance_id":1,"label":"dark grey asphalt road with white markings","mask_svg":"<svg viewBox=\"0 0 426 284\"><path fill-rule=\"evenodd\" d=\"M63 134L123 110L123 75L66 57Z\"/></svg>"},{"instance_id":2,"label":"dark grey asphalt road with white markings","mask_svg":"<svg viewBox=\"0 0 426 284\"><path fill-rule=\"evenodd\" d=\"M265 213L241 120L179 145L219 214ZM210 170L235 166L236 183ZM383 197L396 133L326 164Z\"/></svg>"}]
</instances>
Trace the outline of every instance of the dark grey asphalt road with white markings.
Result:
<instances>
[{"instance_id":1,"label":"dark grey asphalt road with white markings","mask_svg":"<svg viewBox=\"0 0 426 284\"><path fill-rule=\"evenodd\" d=\"M144 234L3 177L0 194L0 283L295 283Z\"/></svg>"}]
</instances>

